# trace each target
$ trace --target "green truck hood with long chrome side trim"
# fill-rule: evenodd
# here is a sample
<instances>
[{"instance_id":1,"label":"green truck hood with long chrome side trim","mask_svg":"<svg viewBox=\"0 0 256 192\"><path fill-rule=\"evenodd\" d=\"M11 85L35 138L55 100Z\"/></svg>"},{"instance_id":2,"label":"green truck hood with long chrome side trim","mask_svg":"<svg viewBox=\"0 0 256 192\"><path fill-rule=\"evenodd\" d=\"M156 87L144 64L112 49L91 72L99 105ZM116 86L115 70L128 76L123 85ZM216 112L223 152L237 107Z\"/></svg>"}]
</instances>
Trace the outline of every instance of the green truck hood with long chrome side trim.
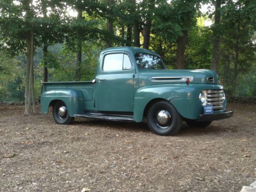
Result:
<instances>
[{"instance_id":1,"label":"green truck hood with long chrome side trim","mask_svg":"<svg viewBox=\"0 0 256 192\"><path fill-rule=\"evenodd\" d=\"M166 83L218 84L218 75L212 70L143 70L139 74L141 87Z\"/></svg>"}]
</instances>

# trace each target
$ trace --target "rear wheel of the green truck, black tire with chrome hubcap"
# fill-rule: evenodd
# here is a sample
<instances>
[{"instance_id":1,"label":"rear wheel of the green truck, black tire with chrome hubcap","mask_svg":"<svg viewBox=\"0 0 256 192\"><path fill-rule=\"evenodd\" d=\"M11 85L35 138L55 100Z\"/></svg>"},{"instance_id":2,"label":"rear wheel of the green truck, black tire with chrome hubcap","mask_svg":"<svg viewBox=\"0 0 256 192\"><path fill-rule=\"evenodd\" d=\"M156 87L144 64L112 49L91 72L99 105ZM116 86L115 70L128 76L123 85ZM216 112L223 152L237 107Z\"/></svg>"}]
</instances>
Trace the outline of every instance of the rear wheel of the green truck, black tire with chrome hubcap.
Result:
<instances>
[{"instance_id":1,"label":"rear wheel of the green truck, black tire with chrome hubcap","mask_svg":"<svg viewBox=\"0 0 256 192\"><path fill-rule=\"evenodd\" d=\"M53 115L53 119L58 124L71 124L74 121L74 117L69 116L68 108L66 104L62 101L57 101L54 104L52 115Z\"/></svg>"}]
</instances>

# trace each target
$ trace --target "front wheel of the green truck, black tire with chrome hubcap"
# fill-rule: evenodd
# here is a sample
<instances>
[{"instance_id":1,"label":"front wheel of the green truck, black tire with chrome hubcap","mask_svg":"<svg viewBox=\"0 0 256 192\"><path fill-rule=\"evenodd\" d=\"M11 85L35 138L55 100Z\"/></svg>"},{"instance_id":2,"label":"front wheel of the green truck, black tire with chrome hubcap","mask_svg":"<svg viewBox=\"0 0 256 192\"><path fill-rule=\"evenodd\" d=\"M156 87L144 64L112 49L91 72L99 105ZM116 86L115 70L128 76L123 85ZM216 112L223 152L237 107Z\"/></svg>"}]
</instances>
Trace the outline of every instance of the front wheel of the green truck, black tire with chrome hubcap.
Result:
<instances>
[{"instance_id":1,"label":"front wheel of the green truck, black tire with chrome hubcap","mask_svg":"<svg viewBox=\"0 0 256 192\"><path fill-rule=\"evenodd\" d=\"M147 111L147 124L158 135L175 135L181 127L182 118L168 101L158 101Z\"/></svg>"}]
</instances>

